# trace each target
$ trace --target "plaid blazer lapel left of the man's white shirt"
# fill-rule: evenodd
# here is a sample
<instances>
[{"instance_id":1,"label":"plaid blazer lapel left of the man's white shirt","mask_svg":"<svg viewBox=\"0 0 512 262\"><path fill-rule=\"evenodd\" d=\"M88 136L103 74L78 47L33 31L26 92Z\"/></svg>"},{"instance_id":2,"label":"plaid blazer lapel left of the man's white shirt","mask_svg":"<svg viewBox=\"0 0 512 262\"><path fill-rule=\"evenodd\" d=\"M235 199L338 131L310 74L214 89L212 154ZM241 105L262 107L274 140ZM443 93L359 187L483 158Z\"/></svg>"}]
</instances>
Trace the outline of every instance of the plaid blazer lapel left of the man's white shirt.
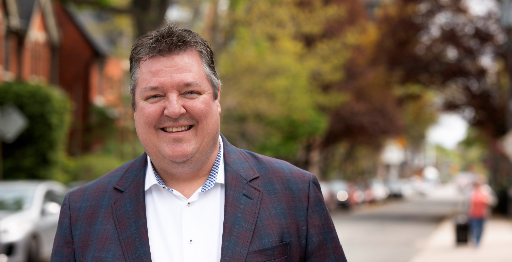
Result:
<instances>
[{"instance_id":1,"label":"plaid blazer lapel left of the man's white shirt","mask_svg":"<svg viewBox=\"0 0 512 262\"><path fill-rule=\"evenodd\" d=\"M147 155L144 153L114 186L123 192L112 204L112 211L126 261L151 261L144 192L146 168Z\"/></svg>"}]
</instances>

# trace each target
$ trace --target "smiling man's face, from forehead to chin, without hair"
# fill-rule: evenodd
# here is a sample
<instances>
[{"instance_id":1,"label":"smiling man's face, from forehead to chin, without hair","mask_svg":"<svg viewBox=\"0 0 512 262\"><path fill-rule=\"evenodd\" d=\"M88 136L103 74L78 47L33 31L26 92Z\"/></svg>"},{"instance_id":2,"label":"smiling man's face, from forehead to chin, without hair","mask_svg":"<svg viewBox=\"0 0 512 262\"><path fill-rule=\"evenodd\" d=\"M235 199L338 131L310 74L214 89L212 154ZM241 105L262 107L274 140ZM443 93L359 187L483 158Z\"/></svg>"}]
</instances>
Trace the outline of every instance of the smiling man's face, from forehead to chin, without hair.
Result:
<instances>
[{"instance_id":1,"label":"smiling man's face, from forehead to chin, without hair","mask_svg":"<svg viewBox=\"0 0 512 262\"><path fill-rule=\"evenodd\" d=\"M143 60L135 127L147 155L160 163L207 162L219 149L219 99L214 100L198 52Z\"/></svg>"}]
</instances>

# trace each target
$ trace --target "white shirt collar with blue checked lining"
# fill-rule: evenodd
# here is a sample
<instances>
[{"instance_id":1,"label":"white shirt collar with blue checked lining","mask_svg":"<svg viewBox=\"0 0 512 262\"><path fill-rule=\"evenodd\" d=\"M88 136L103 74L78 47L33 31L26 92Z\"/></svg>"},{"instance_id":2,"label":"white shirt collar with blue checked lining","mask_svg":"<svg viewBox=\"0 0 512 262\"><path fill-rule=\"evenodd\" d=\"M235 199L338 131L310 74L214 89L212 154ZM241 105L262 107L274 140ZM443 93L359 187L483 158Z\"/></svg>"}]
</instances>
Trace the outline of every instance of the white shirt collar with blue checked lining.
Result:
<instances>
[{"instance_id":1,"label":"white shirt collar with blue checked lining","mask_svg":"<svg viewBox=\"0 0 512 262\"><path fill-rule=\"evenodd\" d=\"M212 167L206 182L201 187L201 193L211 189L216 183L224 184L224 146L222 144L221 136L219 135L219 152L215 159L214 166ZM147 191L153 185L161 186L164 189L173 192L173 189L167 187L163 179L158 175L157 171L153 167L150 156L147 156L147 169L146 169L146 181L144 190Z\"/></svg>"}]
</instances>

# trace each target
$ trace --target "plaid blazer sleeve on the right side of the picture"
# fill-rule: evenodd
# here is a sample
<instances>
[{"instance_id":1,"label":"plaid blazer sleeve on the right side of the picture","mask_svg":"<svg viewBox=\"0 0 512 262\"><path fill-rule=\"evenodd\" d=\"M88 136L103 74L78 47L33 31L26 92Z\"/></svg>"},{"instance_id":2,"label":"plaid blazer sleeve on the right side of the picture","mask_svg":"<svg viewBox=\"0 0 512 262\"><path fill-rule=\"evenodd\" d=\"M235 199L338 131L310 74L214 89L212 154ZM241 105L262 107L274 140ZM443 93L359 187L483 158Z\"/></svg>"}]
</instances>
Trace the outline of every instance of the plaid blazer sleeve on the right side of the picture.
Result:
<instances>
[{"instance_id":1,"label":"plaid blazer sleeve on the right side of the picture","mask_svg":"<svg viewBox=\"0 0 512 262\"><path fill-rule=\"evenodd\" d=\"M347 261L320 184L314 175L310 175L309 182L306 245L306 261Z\"/></svg>"}]
</instances>

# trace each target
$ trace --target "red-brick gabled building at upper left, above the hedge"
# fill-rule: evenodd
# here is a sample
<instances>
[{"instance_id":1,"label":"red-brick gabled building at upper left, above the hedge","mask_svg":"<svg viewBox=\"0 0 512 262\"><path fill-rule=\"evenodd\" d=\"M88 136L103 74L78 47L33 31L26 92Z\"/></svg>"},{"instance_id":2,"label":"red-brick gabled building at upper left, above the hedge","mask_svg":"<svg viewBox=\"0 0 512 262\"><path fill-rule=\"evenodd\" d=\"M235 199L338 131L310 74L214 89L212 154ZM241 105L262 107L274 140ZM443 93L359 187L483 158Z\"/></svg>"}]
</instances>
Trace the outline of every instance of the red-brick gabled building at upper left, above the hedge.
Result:
<instances>
[{"instance_id":1,"label":"red-brick gabled building at upper left, above the hedge","mask_svg":"<svg viewBox=\"0 0 512 262\"><path fill-rule=\"evenodd\" d=\"M61 87L73 101L69 152L88 150L90 107L122 106L127 67L92 40L73 14L50 0L0 0L0 81Z\"/></svg>"}]
</instances>

